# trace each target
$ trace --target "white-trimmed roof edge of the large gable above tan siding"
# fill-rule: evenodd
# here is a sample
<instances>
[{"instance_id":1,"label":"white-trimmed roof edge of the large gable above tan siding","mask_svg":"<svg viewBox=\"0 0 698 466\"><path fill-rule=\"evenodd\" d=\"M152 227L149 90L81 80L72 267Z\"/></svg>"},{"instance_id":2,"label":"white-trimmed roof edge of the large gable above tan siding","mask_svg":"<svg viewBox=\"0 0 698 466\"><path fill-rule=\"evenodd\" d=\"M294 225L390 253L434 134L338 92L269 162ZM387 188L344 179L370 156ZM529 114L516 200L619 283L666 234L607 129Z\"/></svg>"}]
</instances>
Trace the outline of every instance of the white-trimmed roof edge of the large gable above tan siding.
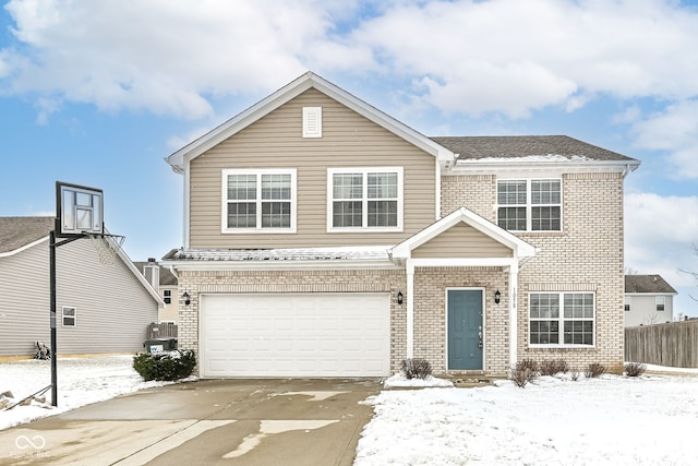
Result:
<instances>
[{"instance_id":1,"label":"white-trimmed roof edge of the large gable above tan siding","mask_svg":"<svg viewBox=\"0 0 698 466\"><path fill-rule=\"evenodd\" d=\"M315 88L328 97L339 101L357 113L402 138L428 154L435 156L440 162L450 164L454 160L455 155L448 148L349 94L329 81L326 81L317 74L309 71L276 91L274 94L254 104L238 116L174 152L166 158L167 163L170 164L174 171L180 174L184 172L189 160L198 157L204 152L221 143L310 88Z\"/></svg>"}]
</instances>

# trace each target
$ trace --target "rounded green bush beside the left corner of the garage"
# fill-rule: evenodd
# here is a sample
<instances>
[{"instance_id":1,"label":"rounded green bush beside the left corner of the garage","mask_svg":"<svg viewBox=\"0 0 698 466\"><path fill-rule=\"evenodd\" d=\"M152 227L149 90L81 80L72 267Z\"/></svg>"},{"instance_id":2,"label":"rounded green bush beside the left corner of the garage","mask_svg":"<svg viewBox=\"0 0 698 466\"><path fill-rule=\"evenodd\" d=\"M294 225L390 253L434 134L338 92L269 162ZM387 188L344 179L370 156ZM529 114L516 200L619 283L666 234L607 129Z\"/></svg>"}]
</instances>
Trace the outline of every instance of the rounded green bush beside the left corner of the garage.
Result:
<instances>
[{"instance_id":1,"label":"rounded green bush beside the left corner of the garage","mask_svg":"<svg viewBox=\"0 0 698 466\"><path fill-rule=\"evenodd\" d=\"M173 381L188 378L194 371L196 358L191 349L144 353L133 357L133 369L144 381Z\"/></svg>"}]
</instances>

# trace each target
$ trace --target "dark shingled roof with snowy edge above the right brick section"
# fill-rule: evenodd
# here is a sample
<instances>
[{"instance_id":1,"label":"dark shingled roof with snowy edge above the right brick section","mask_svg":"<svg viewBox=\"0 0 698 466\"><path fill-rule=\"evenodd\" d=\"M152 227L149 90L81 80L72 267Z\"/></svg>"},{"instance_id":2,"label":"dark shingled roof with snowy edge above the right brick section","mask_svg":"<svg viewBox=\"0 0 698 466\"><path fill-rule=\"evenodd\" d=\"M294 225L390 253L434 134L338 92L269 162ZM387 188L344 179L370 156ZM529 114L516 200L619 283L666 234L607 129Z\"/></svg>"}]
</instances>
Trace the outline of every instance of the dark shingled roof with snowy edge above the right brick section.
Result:
<instances>
[{"instance_id":1,"label":"dark shingled roof with snowy edge above the right brick section","mask_svg":"<svg viewBox=\"0 0 698 466\"><path fill-rule=\"evenodd\" d=\"M551 162L638 160L566 135L432 138L458 154L459 160L540 158Z\"/></svg>"}]
</instances>

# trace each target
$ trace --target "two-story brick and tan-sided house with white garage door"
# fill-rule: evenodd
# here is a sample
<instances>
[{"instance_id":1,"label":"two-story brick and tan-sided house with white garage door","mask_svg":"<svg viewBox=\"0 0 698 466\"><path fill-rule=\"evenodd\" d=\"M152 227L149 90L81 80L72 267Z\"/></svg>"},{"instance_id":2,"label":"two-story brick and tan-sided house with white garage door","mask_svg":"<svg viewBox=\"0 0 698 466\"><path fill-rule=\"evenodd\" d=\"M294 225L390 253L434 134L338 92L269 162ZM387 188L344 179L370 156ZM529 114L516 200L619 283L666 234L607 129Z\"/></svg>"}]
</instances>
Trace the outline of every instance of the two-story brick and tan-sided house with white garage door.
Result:
<instances>
[{"instance_id":1,"label":"two-story brick and tan-sided house with white garage door","mask_svg":"<svg viewBox=\"0 0 698 466\"><path fill-rule=\"evenodd\" d=\"M623 367L623 181L567 136L426 138L306 73L167 158L202 377Z\"/></svg>"}]
</instances>

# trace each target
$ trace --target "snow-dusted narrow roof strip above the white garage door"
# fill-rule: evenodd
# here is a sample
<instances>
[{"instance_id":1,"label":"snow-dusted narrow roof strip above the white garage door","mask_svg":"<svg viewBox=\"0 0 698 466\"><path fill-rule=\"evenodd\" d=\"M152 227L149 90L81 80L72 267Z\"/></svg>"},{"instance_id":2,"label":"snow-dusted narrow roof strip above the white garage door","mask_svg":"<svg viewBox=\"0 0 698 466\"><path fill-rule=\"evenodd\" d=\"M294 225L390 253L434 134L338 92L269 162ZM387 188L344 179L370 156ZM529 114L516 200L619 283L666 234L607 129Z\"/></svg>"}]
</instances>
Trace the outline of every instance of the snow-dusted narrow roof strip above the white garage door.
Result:
<instances>
[{"instance_id":1,"label":"snow-dusted narrow roof strip above the white garage door","mask_svg":"<svg viewBox=\"0 0 698 466\"><path fill-rule=\"evenodd\" d=\"M293 249L180 249L165 260L174 261L388 261L390 246Z\"/></svg>"}]
</instances>

